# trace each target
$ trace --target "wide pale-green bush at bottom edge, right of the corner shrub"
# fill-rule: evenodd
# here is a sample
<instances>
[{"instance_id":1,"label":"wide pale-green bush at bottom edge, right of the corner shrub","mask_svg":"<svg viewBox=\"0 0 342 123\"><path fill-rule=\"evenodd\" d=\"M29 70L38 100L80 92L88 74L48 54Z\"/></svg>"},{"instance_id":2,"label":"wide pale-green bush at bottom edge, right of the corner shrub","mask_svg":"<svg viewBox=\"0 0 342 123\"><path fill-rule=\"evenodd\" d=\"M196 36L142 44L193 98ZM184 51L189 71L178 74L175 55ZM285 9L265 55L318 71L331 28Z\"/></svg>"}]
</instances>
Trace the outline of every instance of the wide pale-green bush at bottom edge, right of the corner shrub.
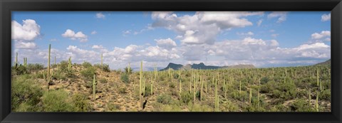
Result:
<instances>
[{"instance_id":1,"label":"wide pale-green bush at bottom edge, right of the corner shrub","mask_svg":"<svg viewBox=\"0 0 342 123\"><path fill-rule=\"evenodd\" d=\"M71 112L73 106L64 90L50 90L43 95L43 112Z\"/></svg>"}]
</instances>

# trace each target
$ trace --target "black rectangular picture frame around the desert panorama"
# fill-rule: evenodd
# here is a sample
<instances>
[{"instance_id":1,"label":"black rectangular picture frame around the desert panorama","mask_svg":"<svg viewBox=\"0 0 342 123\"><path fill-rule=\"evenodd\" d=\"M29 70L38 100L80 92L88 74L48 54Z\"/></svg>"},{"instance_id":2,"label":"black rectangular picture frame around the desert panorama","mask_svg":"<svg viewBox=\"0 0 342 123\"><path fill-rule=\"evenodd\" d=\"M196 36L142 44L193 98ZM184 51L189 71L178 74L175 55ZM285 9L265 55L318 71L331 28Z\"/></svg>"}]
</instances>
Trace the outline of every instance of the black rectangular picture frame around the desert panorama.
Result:
<instances>
[{"instance_id":1,"label":"black rectangular picture frame around the desert panorama","mask_svg":"<svg viewBox=\"0 0 342 123\"><path fill-rule=\"evenodd\" d=\"M11 112L11 11L331 11L331 112ZM0 0L0 122L342 121L341 0Z\"/></svg>"}]
</instances>

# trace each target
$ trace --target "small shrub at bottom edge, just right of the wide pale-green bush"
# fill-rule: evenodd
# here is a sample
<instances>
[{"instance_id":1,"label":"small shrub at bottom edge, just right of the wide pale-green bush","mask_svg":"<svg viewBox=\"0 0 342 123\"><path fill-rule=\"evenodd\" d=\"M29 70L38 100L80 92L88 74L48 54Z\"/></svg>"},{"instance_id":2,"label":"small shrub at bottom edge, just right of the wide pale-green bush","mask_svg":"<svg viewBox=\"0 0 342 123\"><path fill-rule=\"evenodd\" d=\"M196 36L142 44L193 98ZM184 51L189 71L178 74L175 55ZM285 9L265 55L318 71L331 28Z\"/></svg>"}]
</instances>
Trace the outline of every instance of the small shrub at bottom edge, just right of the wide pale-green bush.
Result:
<instances>
[{"instance_id":1,"label":"small shrub at bottom edge, just right of the wide pale-green bush","mask_svg":"<svg viewBox=\"0 0 342 123\"><path fill-rule=\"evenodd\" d=\"M90 105L87 100L87 96L84 94L76 94L72 97L72 104L75 107L75 112L88 112L90 110Z\"/></svg>"}]
</instances>

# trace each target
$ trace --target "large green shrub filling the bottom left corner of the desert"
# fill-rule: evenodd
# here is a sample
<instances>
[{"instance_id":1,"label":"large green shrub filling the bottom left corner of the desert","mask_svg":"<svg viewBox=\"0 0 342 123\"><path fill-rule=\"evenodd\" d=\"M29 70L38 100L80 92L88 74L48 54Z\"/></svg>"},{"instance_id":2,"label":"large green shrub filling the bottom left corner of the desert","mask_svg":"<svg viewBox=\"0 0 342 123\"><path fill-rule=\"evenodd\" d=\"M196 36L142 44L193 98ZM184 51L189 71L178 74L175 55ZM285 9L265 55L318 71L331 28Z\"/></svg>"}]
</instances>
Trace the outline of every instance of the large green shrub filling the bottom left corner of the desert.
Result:
<instances>
[{"instance_id":1,"label":"large green shrub filling the bottom left corner of the desert","mask_svg":"<svg viewBox=\"0 0 342 123\"><path fill-rule=\"evenodd\" d=\"M43 91L34 84L31 75L19 75L11 83L11 106L13 111L36 112Z\"/></svg>"}]
</instances>

